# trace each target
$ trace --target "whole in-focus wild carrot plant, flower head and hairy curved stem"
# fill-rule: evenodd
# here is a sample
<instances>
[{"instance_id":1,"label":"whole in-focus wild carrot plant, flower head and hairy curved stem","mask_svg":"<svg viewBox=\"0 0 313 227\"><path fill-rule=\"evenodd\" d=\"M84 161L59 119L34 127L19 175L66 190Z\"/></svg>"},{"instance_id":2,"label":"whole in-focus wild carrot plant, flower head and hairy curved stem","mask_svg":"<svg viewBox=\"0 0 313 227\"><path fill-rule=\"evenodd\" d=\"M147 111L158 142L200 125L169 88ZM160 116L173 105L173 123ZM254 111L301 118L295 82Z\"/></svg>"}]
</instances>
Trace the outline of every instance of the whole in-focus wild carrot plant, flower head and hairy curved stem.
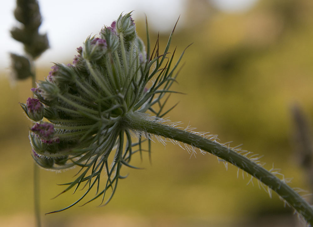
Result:
<instances>
[{"instance_id":1,"label":"whole in-focus wild carrot plant, flower head and hairy curved stem","mask_svg":"<svg viewBox=\"0 0 313 227\"><path fill-rule=\"evenodd\" d=\"M175 29L175 27L174 27ZM176 80L177 62L168 53L172 35L165 51L159 53L158 40L150 49L147 27L147 48L137 36L131 13L120 15L110 27L103 27L99 36L87 37L72 64L56 63L45 81L32 88L33 98L21 104L34 124L29 132L32 155L38 165L46 169L67 169L78 166L77 178L63 192L76 191L84 186L80 199L96 188L95 200L108 202L116 190L123 165L130 164L135 153L142 153L142 143L153 136L166 138L188 151L209 152L229 162L259 180L260 185L274 190L308 225L313 223L313 210L303 198L279 179L275 169L265 170L250 152L218 143L215 136L207 136L176 127L162 119L167 94ZM149 112L150 115L146 112ZM153 116L151 116L153 115ZM45 121L43 119L46 119ZM150 144L148 151L150 152ZM112 163L110 153L114 153ZM106 172L104 188L100 175ZM62 192L62 193L63 193ZM88 202L88 201L87 201ZM51 212L51 213L54 213Z\"/></svg>"}]
</instances>

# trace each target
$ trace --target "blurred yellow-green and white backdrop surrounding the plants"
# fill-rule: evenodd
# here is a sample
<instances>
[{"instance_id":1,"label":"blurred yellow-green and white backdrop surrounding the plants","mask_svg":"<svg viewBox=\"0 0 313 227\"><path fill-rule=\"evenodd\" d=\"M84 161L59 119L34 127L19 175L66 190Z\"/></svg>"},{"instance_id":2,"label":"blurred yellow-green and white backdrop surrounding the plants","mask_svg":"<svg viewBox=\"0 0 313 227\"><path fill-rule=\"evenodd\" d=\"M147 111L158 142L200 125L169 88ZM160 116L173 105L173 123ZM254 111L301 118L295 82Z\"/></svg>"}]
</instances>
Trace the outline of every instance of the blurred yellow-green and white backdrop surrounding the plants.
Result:
<instances>
[{"instance_id":1,"label":"blurred yellow-green and white backdrop surrounding the plants","mask_svg":"<svg viewBox=\"0 0 313 227\"><path fill-rule=\"evenodd\" d=\"M31 81L12 81L8 51L22 54L18 42L8 40L14 1L3 4L0 68L0 226L34 226L33 160L26 119L18 102L31 96ZM50 3L48 3L50 2ZM53 5L52 3L53 2ZM112 3L115 2L115 3ZM218 134L221 142L243 144L244 150L264 155L267 169L280 168L290 185L307 190L310 171L301 166L302 130L311 147L313 119L313 3L306 0L251 1L39 1L42 32L51 48L37 61L38 79L48 75L51 62L72 62L75 48L121 12L133 12L137 32L145 41L145 15L152 42L160 31L161 49L181 15L172 41L177 53L186 51L178 84L186 95L171 96L179 104L167 115L198 131ZM162 46L163 45L163 46ZM178 55L177 55L178 56ZM305 118L299 127L294 110ZM51 200L78 169L55 173L40 170L42 223L52 226L300 226L296 215L278 196L272 198L254 181L247 185L241 172L213 155L190 156L178 146L152 145L147 155L124 168L115 196L63 208L82 195L67 193ZM105 177L105 176L103 176ZM76 195L77 194L77 195ZM309 198L310 199L310 198ZM86 200L87 201L87 200Z\"/></svg>"}]
</instances>

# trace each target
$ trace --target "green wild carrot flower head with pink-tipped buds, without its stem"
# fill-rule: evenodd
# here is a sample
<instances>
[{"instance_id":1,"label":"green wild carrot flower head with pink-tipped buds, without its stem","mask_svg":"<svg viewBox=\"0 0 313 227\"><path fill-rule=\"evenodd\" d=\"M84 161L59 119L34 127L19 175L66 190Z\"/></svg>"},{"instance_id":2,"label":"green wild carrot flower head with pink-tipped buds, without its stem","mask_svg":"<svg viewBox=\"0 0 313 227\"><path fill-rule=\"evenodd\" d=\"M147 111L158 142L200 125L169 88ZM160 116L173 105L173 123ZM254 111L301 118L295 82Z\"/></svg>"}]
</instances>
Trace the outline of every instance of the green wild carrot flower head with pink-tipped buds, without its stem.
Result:
<instances>
[{"instance_id":1,"label":"green wild carrot flower head with pink-tipped buds, without its stem","mask_svg":"<svg viewBox=\"0 0 313 227\"><path fill-rule=\"evenodd\" d=\"M87 37L77 48L73 64L55 63L47 80L37 82L32 89L35 99L22 105L24 111L29 116L29 112L40 109L49 121L31 128L34 160L49 169L84 169L64 192L85 181L89 185L87 194L105 170L108 180L104 190L97 190L96 197L104 197L108 188L114 193L122 177L121 166L131 167L131 156L143 151L143 140L139 136L134 142L132 129L125 122L130 114L144 115L149 110L162 116L168 112L163 110L166 100L162 102L162 98L173 92L170 87L176 77L174 70L182 57L172 67L174 54L168 57L167 53L172 33L162 55L158 40L150 53L149 36L146 51L131 13L120 15L110 27L101 29L99 37ZM115 151L115 158L110 165L111 151Z\"/></svg>"}]
</instances>

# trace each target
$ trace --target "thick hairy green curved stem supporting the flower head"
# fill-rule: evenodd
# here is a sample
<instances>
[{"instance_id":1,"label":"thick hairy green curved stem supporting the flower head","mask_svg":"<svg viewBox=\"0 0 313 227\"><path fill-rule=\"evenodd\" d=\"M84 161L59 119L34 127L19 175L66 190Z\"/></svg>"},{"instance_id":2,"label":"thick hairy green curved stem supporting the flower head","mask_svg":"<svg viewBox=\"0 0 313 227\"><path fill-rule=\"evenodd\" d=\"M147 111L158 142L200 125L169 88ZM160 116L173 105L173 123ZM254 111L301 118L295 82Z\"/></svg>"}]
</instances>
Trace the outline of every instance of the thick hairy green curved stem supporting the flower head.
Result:
<instances>
[{"instance_id":1,"label":"thick hairy green curved stem supporting the flower head","mask_svg":"<svg viewBox=\"0 0 313 227\"><path fill-rule=\"evenodd\" d=\"M313 209L310 204L308 204L297 192L288 186L284 180L280 180L269 170L264 169L261 165L253 162L246 156L239 154L231 148L208 140L202 136L193 134L189 131L162 125L156 121L149 121L140 113L128 113L125 116L123 124L125 127L134 131L163 136L165 138L189 144L228 161L260 180L270 189L274 190L282 199L284 199L300 215L302 215L307 223L313 225Z\"/></svg>"}]
</instances>

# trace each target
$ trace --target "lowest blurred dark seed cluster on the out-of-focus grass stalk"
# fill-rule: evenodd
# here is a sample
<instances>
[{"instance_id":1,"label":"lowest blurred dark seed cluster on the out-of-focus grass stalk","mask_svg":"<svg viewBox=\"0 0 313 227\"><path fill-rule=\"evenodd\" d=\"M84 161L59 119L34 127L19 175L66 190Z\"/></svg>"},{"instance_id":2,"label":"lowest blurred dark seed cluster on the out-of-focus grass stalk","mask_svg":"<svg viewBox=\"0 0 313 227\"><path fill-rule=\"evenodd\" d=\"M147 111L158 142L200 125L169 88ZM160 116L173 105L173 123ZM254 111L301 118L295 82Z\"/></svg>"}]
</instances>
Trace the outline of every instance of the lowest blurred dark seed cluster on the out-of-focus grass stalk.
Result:
<instances>
[{"instance_id":1,"label":"lowest blurred dark seed cluster on the out-of-focus grass stalk","mask_svg":"<svg viewBox=\"0 0 313 227\"><path fill-rule=\"evenodd\" d=\"M13 77L23 80L32 75L31 65L27 57L10 53Z\"/></svg>"}]
</instances>

